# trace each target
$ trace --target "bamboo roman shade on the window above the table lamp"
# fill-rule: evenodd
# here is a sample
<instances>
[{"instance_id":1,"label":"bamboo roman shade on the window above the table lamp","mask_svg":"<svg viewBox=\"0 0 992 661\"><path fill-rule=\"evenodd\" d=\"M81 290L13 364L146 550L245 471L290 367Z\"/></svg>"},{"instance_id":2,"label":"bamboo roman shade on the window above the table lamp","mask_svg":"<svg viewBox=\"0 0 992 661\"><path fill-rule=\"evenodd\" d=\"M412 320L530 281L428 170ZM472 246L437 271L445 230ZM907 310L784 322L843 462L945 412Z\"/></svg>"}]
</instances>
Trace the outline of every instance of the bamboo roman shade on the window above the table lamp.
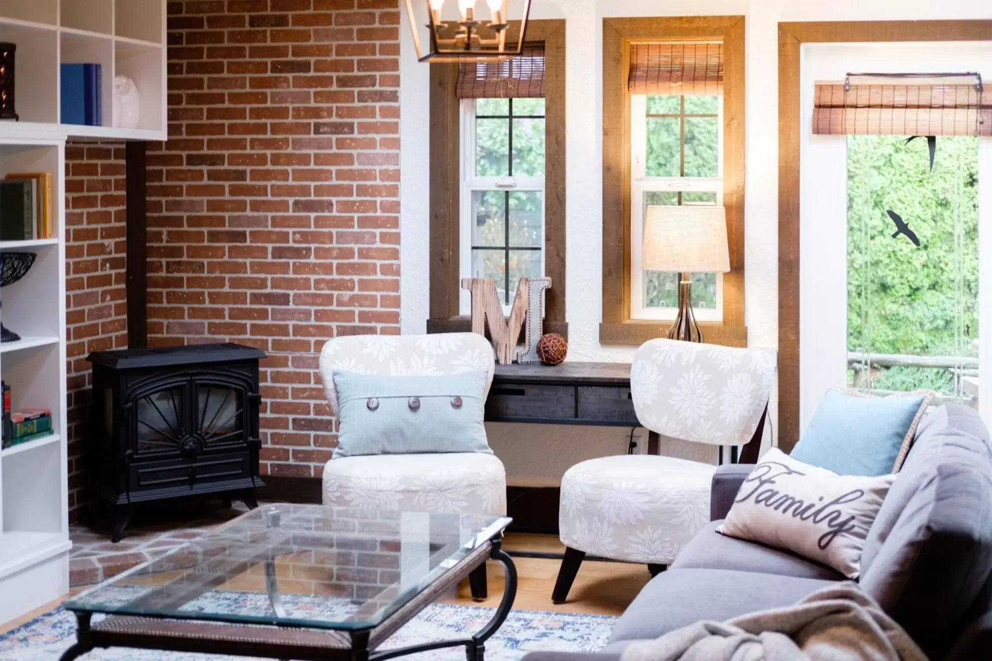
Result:
<instances>
[{"instance_id":1,"label":"bamboo roman shade on the window above the table lamp","mask_svg":"<svg viewBox=\"0 0 992 661\"><path fill-rule=\"evenodd\" d=\"M632 44L628 88L631 94L719 94L723 44Z\"/></svg>"}]
</instances>

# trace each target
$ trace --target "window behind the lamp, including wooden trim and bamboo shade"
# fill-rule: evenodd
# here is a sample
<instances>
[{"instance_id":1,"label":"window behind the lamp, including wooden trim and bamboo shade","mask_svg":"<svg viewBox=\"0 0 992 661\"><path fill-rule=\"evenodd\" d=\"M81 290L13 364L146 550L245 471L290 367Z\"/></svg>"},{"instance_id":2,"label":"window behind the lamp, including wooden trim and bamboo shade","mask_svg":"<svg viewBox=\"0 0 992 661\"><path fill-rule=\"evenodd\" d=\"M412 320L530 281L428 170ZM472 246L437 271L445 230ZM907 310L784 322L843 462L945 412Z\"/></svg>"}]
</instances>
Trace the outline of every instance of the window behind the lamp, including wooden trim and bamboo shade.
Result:
<instances>
[{"instance_id":1,"label":"window behind the lamp, including wooden trim and bamboo shade","mask_svg":"<svg viewBox=\"0 0 992 661\"><path fill-rule=\"evenodd\" d=\"M722 206L730 271L686 274L710 343L744 324L744 18L603 19L602 344L665 337L676 273L642 267L653 205Z\"/></svg>"}]
</instances>

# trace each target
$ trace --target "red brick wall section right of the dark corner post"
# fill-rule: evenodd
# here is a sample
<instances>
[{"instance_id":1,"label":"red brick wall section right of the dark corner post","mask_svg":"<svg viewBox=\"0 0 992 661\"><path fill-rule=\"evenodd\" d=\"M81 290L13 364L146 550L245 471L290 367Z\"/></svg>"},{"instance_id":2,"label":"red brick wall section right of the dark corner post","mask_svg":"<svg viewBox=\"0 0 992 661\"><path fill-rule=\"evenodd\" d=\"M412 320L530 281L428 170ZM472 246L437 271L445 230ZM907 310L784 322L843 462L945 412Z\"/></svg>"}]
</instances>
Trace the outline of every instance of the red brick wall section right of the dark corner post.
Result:
<instances>
[{"instance_id":1,"label":"red brick wall section right of the dark corner post","mask_svg":"<svg viewBox=\"0 0 992 661\"><path fill-rule=\"evenodd\" d=\"M397 0L169 3L149 340L269 352L268 474L330 457L323 342L399 332L399 22Z\"/></svg>"}]
</instances>

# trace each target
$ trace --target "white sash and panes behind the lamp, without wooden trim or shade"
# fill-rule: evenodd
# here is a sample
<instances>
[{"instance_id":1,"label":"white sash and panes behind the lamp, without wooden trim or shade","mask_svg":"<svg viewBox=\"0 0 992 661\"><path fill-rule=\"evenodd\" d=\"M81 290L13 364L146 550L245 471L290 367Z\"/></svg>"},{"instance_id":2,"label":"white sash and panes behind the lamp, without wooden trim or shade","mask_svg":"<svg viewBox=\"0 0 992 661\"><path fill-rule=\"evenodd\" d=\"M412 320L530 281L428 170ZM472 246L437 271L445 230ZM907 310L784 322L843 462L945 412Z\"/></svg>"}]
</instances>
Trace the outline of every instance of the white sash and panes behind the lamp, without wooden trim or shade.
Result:
<instances>
[{"instance_id":1,"label":"white sash and panes behind the lamp, without wooden trim or shade","mask_svg":"<svg viewBox=\"0 0 992 661\"><path fill-rule=\"evenodd\" d=\"M641 267L649 206L723 203L719 94L631 95L631 318L675 319L679 274ZM719 322L723 277L691 274L699 321Z\"/></svg>"}]
</instances>

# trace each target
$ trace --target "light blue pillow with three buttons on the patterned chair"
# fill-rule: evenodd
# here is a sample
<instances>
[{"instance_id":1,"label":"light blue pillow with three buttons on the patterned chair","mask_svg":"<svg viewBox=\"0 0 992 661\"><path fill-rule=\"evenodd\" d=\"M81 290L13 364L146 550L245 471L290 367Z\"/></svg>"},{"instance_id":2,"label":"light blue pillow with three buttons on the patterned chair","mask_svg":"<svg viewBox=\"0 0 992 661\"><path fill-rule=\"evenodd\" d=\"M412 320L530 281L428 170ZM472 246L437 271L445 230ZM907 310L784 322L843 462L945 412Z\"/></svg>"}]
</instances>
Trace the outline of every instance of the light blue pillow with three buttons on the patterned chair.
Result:
<instances>
[{"instance_id":1,"label":"light blue pillow with three buttons on the patterned chair","mask_svg":"<svg viewBox=\"0 0 992 661\"><path fill-rule=\"evenodd\" d=\"M486 372L381 376L334 372L334 459L359 455L492 454L482 423Z\"/></svg>"}]
</instances>

